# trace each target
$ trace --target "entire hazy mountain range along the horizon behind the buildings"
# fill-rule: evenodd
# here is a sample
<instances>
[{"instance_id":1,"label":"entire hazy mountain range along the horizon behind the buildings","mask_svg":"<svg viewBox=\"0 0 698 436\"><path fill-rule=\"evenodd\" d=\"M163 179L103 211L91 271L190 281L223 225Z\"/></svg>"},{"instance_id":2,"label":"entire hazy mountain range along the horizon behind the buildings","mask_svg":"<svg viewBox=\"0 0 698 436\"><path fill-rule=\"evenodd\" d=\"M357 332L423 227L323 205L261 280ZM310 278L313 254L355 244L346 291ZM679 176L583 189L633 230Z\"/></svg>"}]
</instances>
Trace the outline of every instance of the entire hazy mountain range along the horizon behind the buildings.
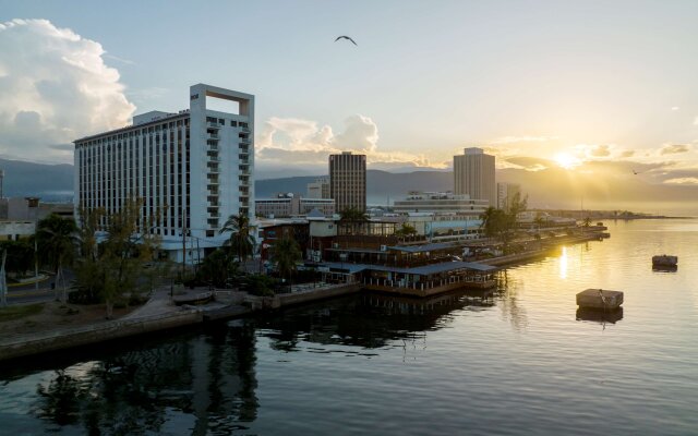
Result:
<instances>
[{"instance_id":1,"label":"entire hazy mountain range along the horizon behind the buildings","mask_svg":"<svg viewBox=\"0 0 698 436\"><path fill-rule=\"evenodd\" d=\"M0 159L4 171L3 195L38 196L45 202L72 201L73 166L34 164ZM529 206L539 208L618 209L665 215L698 215L698 186L652 184L626 172L567 171L546 168L540 171L500 169L498 182L519 183L528 195ZM600 175L602 174L602 175ZM272 197L280 192L304 195L306 185L318 175L299 175L255 181L257 197ZM424 170L413 172L366 172L368 202L392 204L409 191L444 192L453 190L453 172Z\"/></svg>"}]
</instances>

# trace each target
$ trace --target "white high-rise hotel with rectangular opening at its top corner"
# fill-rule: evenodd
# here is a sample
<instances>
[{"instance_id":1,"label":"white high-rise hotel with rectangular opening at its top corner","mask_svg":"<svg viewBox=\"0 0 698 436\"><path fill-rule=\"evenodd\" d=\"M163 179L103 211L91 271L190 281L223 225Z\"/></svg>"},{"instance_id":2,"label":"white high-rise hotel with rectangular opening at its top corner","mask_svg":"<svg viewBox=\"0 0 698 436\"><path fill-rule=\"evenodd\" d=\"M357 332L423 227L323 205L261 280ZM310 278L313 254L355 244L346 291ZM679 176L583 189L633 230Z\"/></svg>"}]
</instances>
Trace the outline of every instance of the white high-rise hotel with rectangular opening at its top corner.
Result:
<instances>
[{"instance_id":1,"label":"white high-rise hotel with rectangular opening at its top corner","mask_svg":"<svg viewBox=\"0 0 698 436\"><path fill-rule=\"evenodd\" d=\"M238 113L207 109L210 98L237 104ZM113 213L139 197L142 218L161 216L151 232L169 258L203 258L228 238L219 230L230 215L254 219L253 132L253 95L197 84L189 110L147 112L131 126L77 140L76 216L80 207Z\"/></svg>"}]
</instances>

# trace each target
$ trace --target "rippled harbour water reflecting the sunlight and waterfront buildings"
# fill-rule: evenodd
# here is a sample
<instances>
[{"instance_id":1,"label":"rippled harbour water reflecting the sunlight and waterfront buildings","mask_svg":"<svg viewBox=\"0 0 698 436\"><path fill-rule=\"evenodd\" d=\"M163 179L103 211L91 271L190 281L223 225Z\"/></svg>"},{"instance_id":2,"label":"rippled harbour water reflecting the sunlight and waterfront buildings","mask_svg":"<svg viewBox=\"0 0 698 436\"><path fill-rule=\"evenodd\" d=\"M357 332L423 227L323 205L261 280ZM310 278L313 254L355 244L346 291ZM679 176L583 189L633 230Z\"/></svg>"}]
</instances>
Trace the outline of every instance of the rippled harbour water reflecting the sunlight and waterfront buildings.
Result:
<instances>
[{"instance_id":1,"label":"rippled harbour water reflecting the sunlight and waterfront buildings","mask_svg":"<svg viewBox=\"0 0 698 436\"><path fill-rule=\"evenodd\" d=\"M0 433L698 434L698 221L607 223L490 299L354 295L3 368ZM623 312L578 313L586 288Z\"/></svg>"}]
</instances>

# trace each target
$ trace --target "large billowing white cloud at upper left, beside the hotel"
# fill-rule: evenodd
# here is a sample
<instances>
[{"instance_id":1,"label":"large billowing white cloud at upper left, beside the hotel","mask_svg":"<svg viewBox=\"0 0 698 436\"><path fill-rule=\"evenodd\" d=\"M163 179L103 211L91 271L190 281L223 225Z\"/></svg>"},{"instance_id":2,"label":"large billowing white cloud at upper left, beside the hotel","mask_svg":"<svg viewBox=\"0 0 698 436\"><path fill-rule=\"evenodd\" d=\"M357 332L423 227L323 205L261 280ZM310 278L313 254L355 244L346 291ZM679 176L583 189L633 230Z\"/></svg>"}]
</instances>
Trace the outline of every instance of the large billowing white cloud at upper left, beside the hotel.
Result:
<instances>
[{"instance_id":1,"label":"large billowing white cloud at upper left, beside the hotel","mask_svg":"<svg viewBox=\"0 0 698 436\"><path fill-rule=\"evenodd\" d=\"M74 140L128 124L135 110L99 43L47 20L0 23L0 154L72 161Z\"/></svg>"}]
</instances>

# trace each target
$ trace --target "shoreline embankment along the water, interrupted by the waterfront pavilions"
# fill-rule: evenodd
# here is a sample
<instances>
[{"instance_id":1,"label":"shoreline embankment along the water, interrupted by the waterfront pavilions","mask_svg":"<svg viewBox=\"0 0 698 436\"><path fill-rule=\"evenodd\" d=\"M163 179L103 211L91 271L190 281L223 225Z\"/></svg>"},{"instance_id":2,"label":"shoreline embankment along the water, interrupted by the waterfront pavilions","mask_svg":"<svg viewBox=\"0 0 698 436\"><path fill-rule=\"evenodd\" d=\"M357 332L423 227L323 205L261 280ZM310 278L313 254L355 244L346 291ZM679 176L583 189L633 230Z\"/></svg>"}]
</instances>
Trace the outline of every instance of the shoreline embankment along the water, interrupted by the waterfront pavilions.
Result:
<instances>
[{"instance_id":1,"label":"shoreline embankment along the water, interrupted by the waterfront pavilions","mask_svg":"<svg viewBox=\"0 0 698 436\"><path fill-rule=\"evenodd\" d=\"M577 237L558 237L546 246L507 256L478 261L481 264L501 267L532 262L550 255L563 244L577 244L601 239L602 232L593 231ZM265 310L278 310L292 305L316 302L320 300L358 293L364 288L360 283L330 284L321 288L305 289L301 292L276 294L274 296L246 295L244 303L236 301L231 304L215 306L170 306L169 290L159 289L140 310L120 319L101 324L87 324L80 327L58 329L53 331L21 335L11 341L0 342L0 365L44 353L61 350L94 347L124 338L134 338L147 334L159 334L186 326L203 325L227 319L240 318ZM230 291L218 291L230 294ZM144 312L144 314L140 314ZM151 313L149 313L151 312Z\"/></svg>"}]
</instances>

